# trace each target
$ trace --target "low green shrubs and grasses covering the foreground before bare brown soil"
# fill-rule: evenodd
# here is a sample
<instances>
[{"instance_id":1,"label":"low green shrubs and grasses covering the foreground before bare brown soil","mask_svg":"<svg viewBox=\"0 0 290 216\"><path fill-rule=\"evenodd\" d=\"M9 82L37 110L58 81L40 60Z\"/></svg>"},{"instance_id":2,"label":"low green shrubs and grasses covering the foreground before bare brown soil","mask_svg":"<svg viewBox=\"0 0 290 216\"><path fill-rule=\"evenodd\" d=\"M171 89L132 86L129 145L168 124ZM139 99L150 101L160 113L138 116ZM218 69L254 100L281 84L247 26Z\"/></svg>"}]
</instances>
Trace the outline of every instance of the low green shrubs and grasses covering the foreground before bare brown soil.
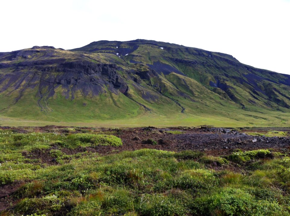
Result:
<instances>
[{"instance_id":1,"label":"low green shrubs and grasses covering the foreground before bare brown soil","mask_svg":"<svg viewBox=\"0 0 290 216\"><path fill-rule=\"evenodd\" d=\"M66 131L0 130L0 186L15 186L1 215L290 215L290 157L279 152L99 155L82 149L121 139ZM36 152L53 159L29 156Z\"/></svg>"}]
</instances>

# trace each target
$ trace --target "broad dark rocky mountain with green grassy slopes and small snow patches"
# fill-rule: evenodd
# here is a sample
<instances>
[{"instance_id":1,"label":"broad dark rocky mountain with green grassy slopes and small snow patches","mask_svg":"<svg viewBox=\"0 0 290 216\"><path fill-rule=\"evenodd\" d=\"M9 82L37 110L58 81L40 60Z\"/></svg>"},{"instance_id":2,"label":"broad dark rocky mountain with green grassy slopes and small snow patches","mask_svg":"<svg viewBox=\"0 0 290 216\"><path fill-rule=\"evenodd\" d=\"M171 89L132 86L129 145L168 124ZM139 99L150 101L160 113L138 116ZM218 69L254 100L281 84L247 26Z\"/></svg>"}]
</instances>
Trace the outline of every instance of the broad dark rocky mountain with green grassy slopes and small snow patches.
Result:
<instances>
[{"instance_id":1,"label":"broad dark rocky mountain with green grassy slopes and small snow patches","mask_svg":"<svg viewBox=\"0 0 290 216\"><path fill-rule=\"evenodd\" d=\"M34 46L0 53L0 101L0 124L290 126L290 75L152 40Z\"/></svg>"}]
</instances>

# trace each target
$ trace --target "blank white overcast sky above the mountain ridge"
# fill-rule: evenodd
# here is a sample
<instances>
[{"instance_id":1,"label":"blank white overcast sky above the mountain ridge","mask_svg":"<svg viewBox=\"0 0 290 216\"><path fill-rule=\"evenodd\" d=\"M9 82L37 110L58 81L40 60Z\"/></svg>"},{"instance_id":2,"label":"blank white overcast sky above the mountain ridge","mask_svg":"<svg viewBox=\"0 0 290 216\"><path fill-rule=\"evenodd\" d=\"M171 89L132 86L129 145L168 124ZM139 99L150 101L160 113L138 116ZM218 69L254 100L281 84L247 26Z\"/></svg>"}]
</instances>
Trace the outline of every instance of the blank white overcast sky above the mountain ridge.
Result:
<instances>
[{"instance_id":1,"label":"blank white overcast sky above the mountain ridge","mask_svg":"<svg viewBox=\"0 0 290 216\"><path fill-rule=\"evenodd\" d=\"M0 52L150 39L290 74L290 0L3 0Z\"/></svg>"}]
</instances>

